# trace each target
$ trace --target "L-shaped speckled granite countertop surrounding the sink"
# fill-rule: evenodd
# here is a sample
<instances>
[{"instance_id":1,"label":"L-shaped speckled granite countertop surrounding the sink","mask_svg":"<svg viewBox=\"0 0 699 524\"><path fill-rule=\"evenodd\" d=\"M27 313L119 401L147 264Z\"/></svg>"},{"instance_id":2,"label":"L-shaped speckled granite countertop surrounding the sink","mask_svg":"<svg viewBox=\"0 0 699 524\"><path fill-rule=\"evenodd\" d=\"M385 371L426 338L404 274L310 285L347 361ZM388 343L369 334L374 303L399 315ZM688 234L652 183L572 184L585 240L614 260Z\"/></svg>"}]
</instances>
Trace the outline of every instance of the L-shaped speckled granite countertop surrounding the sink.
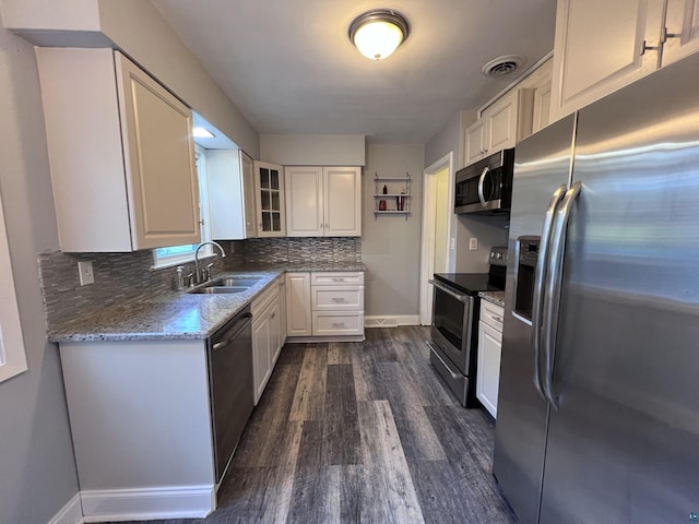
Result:
<instances>
[{"instance_id":1,"label":"L-shaped speckled granite countertop surrounding the sink","mask_svg":"<svg viewBox=\"0 0 699 524\"><path fill-rule=\"evenodd\" d=\"M362 263L303 263L275 267L246 266L213 275L258 276L260 282L232 295L167 291L125 305L96 307L94 312L54 326L50 342L203 340L249 306L288 271L365 271Z\"/></svg>"}]
</instances>

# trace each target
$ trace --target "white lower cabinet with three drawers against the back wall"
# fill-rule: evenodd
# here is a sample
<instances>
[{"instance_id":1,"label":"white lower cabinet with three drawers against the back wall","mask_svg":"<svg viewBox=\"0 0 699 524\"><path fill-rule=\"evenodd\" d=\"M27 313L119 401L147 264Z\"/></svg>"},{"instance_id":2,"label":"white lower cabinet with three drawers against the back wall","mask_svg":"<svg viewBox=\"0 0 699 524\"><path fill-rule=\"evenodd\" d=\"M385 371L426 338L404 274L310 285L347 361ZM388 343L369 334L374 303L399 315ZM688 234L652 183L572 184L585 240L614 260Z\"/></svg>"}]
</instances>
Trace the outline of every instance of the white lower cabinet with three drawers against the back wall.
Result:
<instances>
[{"instance_id":1,"label":"white lower cabinet with three drawers against the back wall","mask_svg":"<svg viewBox=\"0 0 699 524\"><path fill-rule=\"evenodd\" d=\"M364 273L288 273L287 334L313 338L364 340Z\"/></svg>"}]
</instances>

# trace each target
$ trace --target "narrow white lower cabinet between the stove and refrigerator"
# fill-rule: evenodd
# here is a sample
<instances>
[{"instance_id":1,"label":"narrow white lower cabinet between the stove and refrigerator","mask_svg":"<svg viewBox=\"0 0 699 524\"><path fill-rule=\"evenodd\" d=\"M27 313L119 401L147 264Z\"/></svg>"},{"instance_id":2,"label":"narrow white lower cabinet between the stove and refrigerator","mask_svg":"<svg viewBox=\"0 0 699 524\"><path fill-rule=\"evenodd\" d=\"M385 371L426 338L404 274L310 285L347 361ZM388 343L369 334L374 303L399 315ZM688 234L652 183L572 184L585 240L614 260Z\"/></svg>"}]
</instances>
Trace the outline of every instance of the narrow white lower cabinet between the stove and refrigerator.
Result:
<instances>
[{"instance_id":1,"label":"narrow white lower cabinet between the stove and refrigerator","mask_svg":"<svg viewBox=\"0 0 699 524\"><path fill-rule=\"evenodd\" d=\"M476 397L493 418L497 418L498 415L503 314L502 307L486 300L481 301Z\"/></svg>"}]
</instances>

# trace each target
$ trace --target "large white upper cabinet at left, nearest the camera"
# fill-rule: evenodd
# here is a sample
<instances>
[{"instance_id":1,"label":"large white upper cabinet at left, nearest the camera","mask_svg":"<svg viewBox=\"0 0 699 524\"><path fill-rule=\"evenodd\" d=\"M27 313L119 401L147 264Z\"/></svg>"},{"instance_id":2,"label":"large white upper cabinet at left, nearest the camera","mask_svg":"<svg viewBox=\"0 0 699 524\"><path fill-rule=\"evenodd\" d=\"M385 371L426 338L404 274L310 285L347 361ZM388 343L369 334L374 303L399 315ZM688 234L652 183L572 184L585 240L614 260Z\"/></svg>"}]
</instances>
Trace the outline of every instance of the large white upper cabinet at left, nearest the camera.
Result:
<instances>
[{"instance_id":1,"label":"large white upper cabinet at left, nearest the camera","mask_svg":"<svg viewBox=\"0 0 699 524\"><path fill-rule=\"evenodd\" d=\"M61 250L199 242L190 109L111 49L36 53Z\"/></svg>"}]
</instances>

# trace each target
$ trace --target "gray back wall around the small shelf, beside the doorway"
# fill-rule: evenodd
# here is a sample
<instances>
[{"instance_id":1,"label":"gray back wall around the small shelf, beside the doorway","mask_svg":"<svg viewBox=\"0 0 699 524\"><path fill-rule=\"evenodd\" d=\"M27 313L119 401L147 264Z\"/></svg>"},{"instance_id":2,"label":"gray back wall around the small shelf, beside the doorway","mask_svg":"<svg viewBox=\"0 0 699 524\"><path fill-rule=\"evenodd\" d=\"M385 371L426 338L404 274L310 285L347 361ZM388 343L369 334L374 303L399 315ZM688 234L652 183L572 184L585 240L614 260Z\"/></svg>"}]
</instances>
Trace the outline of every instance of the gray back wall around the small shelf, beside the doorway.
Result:
<instances>
[{"instance_id":1,"label":"gray back wall around the small shelf, beside the doorway","mask_svg":"<svg viewBox=\"0 0 699 524\"><path fill-rule=\"evenodd\" d=\"M423 145L369 144L363 179L362 261L365 314L417 315L423 202ZM412 214L374 218L375 171L380 177L412 177ZM382 187L382 186L381 186Z\"/></svg>"}]
</instances>

